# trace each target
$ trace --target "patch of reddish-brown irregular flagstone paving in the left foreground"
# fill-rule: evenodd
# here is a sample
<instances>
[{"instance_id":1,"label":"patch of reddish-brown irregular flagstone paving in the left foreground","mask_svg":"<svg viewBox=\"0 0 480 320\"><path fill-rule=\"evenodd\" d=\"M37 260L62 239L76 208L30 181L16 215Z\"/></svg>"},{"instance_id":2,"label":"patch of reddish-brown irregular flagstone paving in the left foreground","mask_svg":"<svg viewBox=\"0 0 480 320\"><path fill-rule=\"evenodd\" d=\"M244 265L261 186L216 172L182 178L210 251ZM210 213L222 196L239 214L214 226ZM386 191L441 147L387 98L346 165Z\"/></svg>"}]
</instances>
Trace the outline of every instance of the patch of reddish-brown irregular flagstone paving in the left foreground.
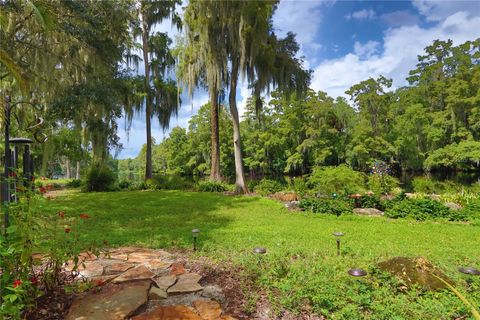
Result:
<instances>
[{"instance_id":1,"label":"patch of reddish-brown irregular flagstone paving in the left foreground","mask_svg":"<svg viewBox=\"0 0 480 320\"><path fill-rule=\"evenodd\" d=\"M233 320L222 311L224 296L215 285L200 284L174 255L124 247L108 255L80 255L75 272L98 290L79 295L67 320ZM65 269L72 271L73 263Z\"/></svg>"}]
</instances>

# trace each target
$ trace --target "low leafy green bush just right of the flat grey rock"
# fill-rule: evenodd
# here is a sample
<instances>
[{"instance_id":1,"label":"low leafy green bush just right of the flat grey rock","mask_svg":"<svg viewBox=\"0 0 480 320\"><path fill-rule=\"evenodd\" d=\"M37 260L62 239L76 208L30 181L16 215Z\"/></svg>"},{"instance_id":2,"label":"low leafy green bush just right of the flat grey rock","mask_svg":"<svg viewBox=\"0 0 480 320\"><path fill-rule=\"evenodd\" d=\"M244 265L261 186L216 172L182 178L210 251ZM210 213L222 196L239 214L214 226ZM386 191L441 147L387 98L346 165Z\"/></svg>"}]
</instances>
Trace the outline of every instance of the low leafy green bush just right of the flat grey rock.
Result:
<instances>
[{"instance_id":1,"label":"low leafy green bush just right of the flat grey rock","mask_svg":"<svg viewBox=\"0 0 480 320\"><path fill-rule=\"evenodd\" d=\"M389 218L413 218L418 221L447 219L449 221L466 221L464 212L450 210L442 203L431 199L405 199L385 211Z\"/></svg>"}]
</instances>

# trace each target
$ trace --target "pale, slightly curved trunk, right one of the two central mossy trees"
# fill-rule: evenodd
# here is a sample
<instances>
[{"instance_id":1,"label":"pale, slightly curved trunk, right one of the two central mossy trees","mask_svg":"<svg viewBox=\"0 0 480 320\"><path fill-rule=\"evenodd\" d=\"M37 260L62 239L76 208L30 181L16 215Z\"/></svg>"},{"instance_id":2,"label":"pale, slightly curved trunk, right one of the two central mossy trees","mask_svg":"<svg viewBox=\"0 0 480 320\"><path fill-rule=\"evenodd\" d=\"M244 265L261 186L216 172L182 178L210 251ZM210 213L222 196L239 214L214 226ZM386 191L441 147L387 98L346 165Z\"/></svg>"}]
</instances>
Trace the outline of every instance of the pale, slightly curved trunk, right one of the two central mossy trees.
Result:
<instances>
[{"instance_id":1,"label":"pale, slightly curved trunk, right one of the two central mossy trees","mask_svg":"<svg viewBox=\"0 0 480 320\"><path fill-rule=\"evenodd\" d=\"M235 153L235 192L248 193L243 172L242 143L240 137L240 118L237 110L237 81L238 60L232 62L232 74L230 78L229 104L233 123L233 149Z\"/></svg>"}]
</instances>

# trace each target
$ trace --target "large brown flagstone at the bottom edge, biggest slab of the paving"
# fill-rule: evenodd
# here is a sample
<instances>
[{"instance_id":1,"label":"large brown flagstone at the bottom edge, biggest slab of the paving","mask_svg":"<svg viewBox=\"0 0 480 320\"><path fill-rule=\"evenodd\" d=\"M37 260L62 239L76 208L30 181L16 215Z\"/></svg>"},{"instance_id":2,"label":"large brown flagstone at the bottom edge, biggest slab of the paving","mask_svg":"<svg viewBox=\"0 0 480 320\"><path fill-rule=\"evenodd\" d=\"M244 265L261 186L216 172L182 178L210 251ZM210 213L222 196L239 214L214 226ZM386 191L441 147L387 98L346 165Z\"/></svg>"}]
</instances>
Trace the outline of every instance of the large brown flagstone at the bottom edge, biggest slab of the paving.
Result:
<instances>
[{"instance_id":1,"label":"large brown flagstone at the bottom edge, biggest slab of the paving","mask_svg":"<svg viewBox=\"0 0 480 320\"><path fill-rule=\"evenodd\" d=\"M150 281L136 281L116 286L97 294L78 297L70 307L66 320L126 319L147 302ZM105 287L104 289L107 289Z\"/></svg>"}]
</instances>

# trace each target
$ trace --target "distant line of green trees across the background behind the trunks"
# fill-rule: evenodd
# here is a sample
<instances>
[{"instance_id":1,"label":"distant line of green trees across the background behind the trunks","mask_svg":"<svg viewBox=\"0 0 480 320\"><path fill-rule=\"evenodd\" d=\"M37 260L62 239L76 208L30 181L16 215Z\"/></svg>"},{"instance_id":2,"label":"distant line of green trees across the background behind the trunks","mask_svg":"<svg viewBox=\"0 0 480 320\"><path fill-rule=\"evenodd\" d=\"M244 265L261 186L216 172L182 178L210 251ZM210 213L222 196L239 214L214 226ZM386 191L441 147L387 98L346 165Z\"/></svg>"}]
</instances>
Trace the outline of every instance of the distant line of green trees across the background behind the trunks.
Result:
<instances>
[{"instance_id":1,"label":"distant line of green trees across the background behind the trunks","mask_svg":"<svg viewBox=\"0 0 480 320\"><path fill-rule=\"evenodd\" d=\"M298 176L342 163L368 171L375 160L404 171L478 169L480 40L459 46L437 40L418 59L409 86L389 91L390 79L370 78L346 91L351 104L313 90L302 99L273 92L262 110L248 100L241 123L246 173ZM200 108L188 130L173 128L154 146L154 172L209 174L209 108ZM235 177L229 117L221 107L221 172L227 179ZM144 166L145 148L119 161L120 179L142 177Z\"/></svg>"}]
</instances>

